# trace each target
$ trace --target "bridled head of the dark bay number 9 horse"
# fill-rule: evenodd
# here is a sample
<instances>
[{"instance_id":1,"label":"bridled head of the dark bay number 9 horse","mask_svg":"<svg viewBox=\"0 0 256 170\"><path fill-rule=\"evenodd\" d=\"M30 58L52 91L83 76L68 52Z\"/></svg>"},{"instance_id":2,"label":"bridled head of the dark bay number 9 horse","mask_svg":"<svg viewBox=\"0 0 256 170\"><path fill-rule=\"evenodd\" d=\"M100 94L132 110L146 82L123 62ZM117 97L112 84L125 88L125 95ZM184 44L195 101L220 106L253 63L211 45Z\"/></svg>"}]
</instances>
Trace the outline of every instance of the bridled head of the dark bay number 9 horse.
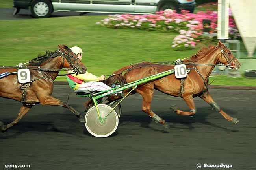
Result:
<instances>
[{"instance_id":1,"label":"bridled head of the dark bay number 9 horse","mask_svg":"<svg viewBox=\"0 0 256 170\"><path fill-rule=\"evenodd\" d=\"M78 56L65 45L58 45L60 56L63 57L63 67L71 68L74 72L85 73L87 68L79 60Z\"/></svg>"}]
</instances>

